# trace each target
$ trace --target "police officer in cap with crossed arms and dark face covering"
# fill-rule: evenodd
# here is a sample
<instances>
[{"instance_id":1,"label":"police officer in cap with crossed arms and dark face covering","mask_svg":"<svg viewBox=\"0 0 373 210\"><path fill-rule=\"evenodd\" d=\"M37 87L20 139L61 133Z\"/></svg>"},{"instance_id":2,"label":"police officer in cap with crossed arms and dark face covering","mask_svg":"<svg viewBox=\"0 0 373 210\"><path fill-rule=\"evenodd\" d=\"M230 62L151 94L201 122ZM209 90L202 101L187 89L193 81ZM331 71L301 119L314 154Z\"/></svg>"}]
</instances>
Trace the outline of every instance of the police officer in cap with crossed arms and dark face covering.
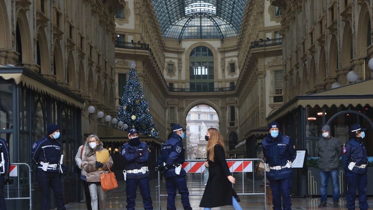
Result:
<instances>
[{"instance_id":1,"label":"police officer in cap with crossed arms and dark face covering","mask_svg":"<svg viewBox=\"0 0 373 210\"><path fill-rule=\"evenodd\" d=\"M126 194L128 210L135 209L137 185L140 188L142 203L145 210L153 209L149 186L149 147L145 142L140 142L136 129L128 133L129 142L123 145L122 155L126 160L123 174L126 180Z\"/></svg>"}]
</instances>

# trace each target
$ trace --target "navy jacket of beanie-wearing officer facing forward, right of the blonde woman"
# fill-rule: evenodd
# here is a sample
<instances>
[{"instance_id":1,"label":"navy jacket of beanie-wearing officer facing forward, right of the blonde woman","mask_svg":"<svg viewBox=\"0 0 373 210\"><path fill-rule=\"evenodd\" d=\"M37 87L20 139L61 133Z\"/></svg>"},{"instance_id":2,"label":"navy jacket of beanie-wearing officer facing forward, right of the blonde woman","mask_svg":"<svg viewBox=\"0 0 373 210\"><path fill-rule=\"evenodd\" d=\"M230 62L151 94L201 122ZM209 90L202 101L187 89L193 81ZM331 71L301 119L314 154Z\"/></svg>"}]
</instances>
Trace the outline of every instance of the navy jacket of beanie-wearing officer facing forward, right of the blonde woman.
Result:
<instances>
[{"instance_id":1,"label":"navy jacket of beanie-wearing officer facing forward, right of the blonde woman","mask_svg":"<svg viewBox=\"0 0 373 210\"><path fill-rule=\"evenodd\" d=\"M266 163L269 166L286 166L286 161L294 161L297 157L297 151L289 136L282 135L279 132L277 138L272 138L267 135L262 141L263 154L266 158ZM281 170L271 169L267 173L268 180L289 179L292 177L292 168L283 168Z\"/></svg>"}]
</instances>

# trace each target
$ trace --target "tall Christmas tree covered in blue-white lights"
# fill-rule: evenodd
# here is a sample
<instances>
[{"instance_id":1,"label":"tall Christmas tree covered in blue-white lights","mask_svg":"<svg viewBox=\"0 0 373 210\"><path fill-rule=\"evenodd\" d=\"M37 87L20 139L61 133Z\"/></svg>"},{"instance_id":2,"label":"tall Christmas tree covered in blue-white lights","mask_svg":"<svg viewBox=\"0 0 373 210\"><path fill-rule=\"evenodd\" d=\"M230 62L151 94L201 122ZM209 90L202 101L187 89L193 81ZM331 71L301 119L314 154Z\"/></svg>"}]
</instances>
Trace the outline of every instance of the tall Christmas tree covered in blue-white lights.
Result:
<instances>
[{"instance_id":1,"label":"tall Christmas tree covered in blue-white lights","mask_svg":"<svg viewBox=\"0 0 373 210\"><path fill-rule=\"evenodd\" d=\"M122 130L129 132L129 130L135 128L142 135L158 138L159 132L153 123L153 116L149 113L148 102L142 95L141 84L135 70L135 62L131 62L127 84L123 88L123 96L120 98L117 114L117 119L124 123Z\"/></svg>"}]
</instances>

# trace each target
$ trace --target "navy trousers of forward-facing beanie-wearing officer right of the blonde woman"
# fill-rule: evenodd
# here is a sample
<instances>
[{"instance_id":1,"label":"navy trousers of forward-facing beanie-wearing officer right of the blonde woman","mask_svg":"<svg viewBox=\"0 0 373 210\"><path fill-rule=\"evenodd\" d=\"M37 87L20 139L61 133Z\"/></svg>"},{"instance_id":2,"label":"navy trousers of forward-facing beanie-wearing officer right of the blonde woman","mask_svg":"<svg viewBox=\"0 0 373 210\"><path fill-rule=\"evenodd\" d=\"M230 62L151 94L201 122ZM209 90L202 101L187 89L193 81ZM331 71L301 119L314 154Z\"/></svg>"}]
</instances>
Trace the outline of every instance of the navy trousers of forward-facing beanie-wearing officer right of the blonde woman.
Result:
<instances>
[{"instance_id":1,"label":"navy trousers of forward-facing beanie-wearing officer right of the blonde woman","mask_svg":"<svg viewBox=\"0 0 373 210\"><path fill-rule=\"evenodd\" d=\"M281 195L283 210L291 210L291 179L270 180L269 186L272 190L272 204L273 210L282 210Z\"/></svg>"}]
</instances>

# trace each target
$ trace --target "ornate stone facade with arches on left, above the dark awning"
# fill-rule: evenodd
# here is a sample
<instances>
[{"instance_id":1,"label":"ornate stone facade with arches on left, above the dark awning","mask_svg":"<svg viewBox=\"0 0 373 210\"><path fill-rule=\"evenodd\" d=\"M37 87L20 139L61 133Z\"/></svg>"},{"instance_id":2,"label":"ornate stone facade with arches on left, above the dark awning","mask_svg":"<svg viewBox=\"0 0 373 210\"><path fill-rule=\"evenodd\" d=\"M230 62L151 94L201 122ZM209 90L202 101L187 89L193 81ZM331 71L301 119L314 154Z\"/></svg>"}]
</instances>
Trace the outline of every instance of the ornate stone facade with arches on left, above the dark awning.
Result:
<instances>
[{"instance_id":1,"label":"ornate stone facade with arches on left, above the dark awning","mask_svg":"<svg viewBox=\"0 0 373 210\"><path fill-rule=\"evenodd\" d=\"M0 63L24 66L114 116L114 14L123 0L0 0ZM82 118L82 133L97 124Z\"/></svg>"}]
</instances>

